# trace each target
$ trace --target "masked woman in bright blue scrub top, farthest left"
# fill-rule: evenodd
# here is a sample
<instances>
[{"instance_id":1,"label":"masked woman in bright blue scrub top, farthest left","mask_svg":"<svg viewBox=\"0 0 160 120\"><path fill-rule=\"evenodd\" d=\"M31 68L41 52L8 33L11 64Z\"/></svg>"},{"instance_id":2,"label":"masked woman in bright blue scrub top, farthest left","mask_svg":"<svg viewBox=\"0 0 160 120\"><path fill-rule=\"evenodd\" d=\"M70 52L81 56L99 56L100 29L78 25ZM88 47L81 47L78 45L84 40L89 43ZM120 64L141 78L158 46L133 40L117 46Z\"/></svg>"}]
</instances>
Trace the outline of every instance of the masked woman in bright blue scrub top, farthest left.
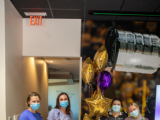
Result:
<instances>
[{"instance_id":1,"label":"masked woman in bright blue scrub top, farthest left","mask_svg":"<svg viewBox=\"0 0 160 120\"><path fill-rule=\"evenodd\" d=\"M38 93L32 92L27 97L27 108L19 117L19 120L43 120L43 117L37 110L40 107L41 97Z\"/></svg>"}]
</instances>

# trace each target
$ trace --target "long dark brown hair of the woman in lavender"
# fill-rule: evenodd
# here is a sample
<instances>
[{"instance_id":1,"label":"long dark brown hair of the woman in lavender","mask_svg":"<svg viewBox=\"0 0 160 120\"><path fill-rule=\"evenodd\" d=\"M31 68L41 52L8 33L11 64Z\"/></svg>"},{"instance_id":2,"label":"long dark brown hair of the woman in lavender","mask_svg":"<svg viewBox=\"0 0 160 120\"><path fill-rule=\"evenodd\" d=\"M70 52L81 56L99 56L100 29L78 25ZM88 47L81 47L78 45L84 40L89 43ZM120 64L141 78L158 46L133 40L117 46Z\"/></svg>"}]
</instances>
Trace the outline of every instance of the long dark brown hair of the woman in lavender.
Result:
<instances>
[{"instance_id":1,"label":"long dark brown hair of the woman in lavender","mask_svg":"<svg viewBox=\"0 0 160 120\"><path fill-rule=\"evenodd\" d=\"M70 115L70 99L69 99L69 97L68 97L68 95L67 95L67 93L65 93L65 92L62 92L62 93L60 93L59 95L58 95L58 97L57 97L57 100L56 100L56 107L55 108L58 108L58 109L60 109L60 103L59 103L59 98L60 98L60 96L61 95L66 95L67 96L67 98L68 98L68 106L67 106L67 108L66 108L66 113L68 114L68 115Z\"/></svg>"}]
</instances>

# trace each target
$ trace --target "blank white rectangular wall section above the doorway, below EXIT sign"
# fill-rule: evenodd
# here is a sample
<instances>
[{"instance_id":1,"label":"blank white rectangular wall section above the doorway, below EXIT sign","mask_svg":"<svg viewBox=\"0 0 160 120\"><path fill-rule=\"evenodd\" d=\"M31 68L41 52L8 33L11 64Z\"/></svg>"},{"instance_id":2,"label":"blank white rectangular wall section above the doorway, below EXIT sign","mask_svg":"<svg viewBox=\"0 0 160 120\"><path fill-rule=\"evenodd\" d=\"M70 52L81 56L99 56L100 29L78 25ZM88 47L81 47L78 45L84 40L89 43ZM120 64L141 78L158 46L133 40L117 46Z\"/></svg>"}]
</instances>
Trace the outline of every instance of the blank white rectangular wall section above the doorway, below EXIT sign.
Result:
<instances>
[{"instance_id":1,"label":"blank white rectangular wall section above the doorway, below EXIT sign","mask_svg":"<svg viewBox=\"0 0 160 120\"><path fill-rule=\"evenodd\" d=\"M81 20L45 19L44 26L23 20L23 56L80 57Z\"/></svg>"}]
</instances>

